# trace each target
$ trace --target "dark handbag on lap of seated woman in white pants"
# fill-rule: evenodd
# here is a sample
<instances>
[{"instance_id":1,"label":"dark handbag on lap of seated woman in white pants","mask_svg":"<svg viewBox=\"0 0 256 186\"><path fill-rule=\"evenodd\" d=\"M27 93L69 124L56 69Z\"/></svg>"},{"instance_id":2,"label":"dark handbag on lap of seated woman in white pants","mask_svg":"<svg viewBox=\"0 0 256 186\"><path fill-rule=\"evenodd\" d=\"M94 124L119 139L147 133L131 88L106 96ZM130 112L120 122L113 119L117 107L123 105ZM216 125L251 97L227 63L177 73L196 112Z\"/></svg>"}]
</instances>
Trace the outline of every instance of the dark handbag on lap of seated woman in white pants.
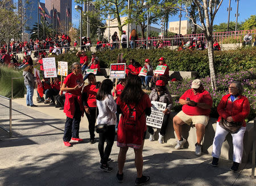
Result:
<instances>
[{"instance_id":1,"label":"dark handbag on lap of seated woman in white pants","mask_svg":"<svg viewBox=\"0 0 256 186\"><path fill-rule=\"evenodd\" d=\"M226 101L226 105L228 104L229 98ZM226 105L224 110L226 109ZM221 118L218 124L221 128L225 129L226 131L230 132L231 134L237 133L237 131L242 127L243 122L228 122L223 117Z\"/></svg>"}]
</instances>

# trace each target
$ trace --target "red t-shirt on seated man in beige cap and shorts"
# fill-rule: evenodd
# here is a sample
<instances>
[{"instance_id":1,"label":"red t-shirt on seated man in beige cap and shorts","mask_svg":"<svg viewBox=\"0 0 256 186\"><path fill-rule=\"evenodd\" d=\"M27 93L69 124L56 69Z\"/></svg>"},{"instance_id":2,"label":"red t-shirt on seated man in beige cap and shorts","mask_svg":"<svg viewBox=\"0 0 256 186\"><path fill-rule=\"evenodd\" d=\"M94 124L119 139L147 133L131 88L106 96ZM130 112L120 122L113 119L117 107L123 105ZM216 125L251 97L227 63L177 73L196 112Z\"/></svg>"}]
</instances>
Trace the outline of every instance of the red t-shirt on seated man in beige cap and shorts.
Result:
<instances>
[{"instance_id":1,"label":"red t-shirt on seated man in beige cap and shorts","mask_svg":"<svg viewBox=\"0 0 256 186\"><path fill-rule=\"evenodd\" d=\"M194 94L192 88L185 91L185 93L180 97L180 99L186 100L189 98L190 100L193 100L196 103L206 103L212 107L212 96L210 96L209 92L206 90L203 90L200 93ZM190 105L183 105L182 111L189 116L200 116L200 115L205 115L209 116L210 115L210 109L203 109L200 107L192 107Z\"/></svg>"}]
</instances>

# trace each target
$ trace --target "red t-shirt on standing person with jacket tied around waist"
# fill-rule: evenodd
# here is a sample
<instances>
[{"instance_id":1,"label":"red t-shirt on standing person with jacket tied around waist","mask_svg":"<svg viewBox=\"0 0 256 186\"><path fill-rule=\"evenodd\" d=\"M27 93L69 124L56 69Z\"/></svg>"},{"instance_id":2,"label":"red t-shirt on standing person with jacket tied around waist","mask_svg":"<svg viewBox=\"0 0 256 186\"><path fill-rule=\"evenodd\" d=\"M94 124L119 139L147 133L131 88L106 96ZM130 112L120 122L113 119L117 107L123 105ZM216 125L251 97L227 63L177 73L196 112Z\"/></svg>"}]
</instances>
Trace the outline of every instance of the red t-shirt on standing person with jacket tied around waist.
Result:
<instances>
[{"instance_id":1,"label":"red t-shirt on standing person with jacket tied around waist","mask_svg":"<svg viewBox=\"0 0 256 186\"><path fill-rule=\"evenodd\" d=\"M75 86L77 86L77 84L81 84L82 81L82 74L79 75L75 75L74 73L70 73L67 75L67 77L64 80L64 84L68 87L68 88L74 88ZM81 94L81 89L79 88L79 90L72 90L72 91L68 91L68 93L70 94L75 94L75 95L80 95Z\"/></svg>"}]
</instances>

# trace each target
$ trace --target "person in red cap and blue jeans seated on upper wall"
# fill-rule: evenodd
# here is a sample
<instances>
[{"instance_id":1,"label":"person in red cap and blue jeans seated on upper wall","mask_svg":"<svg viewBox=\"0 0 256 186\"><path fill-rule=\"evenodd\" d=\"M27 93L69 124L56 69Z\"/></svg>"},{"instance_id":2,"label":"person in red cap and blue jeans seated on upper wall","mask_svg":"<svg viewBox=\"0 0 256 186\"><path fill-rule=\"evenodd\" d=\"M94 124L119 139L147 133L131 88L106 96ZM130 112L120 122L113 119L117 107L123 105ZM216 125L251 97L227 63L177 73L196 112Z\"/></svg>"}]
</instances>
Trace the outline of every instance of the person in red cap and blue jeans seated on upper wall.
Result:
<instances>
[{"instance_id":1,"label":"person in red cap and blue jeans seated on upper wall","mask_svg":"<svg viewBox=\"0 0 256 186\"><path fill-rule=\"evenodd\" d=\"M153 74L153 68L150 64L150 60L148 60L148 59L145 60L145 64L144 64L144 66L141 70L144 70L144 69L146 69L147 74L139 73L139 77L141 77L142 88L146 87L146 89L149 90L150 89L149 88L149 82L151 81L151 78L154 75Z\"/></svg>"}]
</instances>

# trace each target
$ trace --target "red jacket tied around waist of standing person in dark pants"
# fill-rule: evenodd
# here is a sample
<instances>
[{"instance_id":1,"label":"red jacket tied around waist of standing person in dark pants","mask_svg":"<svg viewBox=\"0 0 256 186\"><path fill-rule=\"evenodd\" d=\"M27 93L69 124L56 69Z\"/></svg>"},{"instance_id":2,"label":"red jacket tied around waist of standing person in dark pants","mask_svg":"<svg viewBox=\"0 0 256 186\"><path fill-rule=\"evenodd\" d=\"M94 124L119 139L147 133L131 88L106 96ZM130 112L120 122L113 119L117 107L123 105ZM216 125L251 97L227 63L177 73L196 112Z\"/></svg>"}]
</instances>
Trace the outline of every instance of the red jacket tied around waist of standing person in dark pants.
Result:
<instances>
[{"instance_id":1,"label":"red jacket tied around waist of standing person in dark pants","mask_svg":"<svg viewBox=\"0 0 256 186\"><path fill-rule=\"evenodd\" d=\"M84 108L82 107L82 96L66 93L65 94L64 113L66 114L67 117L70 117L72 119L75 115L75 109L76 109L75 99L77 99L77 102L79 103L79 106L80 106L80 111L82 113L82 116L84 116Z\"/></svg>"}]
</instances>

